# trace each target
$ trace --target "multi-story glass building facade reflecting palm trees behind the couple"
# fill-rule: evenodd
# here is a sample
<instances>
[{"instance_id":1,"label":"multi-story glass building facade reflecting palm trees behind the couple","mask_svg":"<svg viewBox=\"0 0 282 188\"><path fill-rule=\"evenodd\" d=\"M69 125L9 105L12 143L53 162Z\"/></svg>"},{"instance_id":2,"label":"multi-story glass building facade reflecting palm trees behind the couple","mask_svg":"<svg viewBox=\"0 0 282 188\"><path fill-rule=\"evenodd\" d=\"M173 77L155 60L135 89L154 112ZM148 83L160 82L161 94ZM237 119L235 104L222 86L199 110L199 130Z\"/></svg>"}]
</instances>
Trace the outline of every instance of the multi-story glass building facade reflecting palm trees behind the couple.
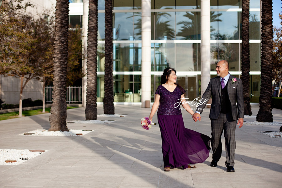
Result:
<instances>
[{"instance_id":1,"label":"multi-story glass building facade reflecting palm trees behind the couple","mask_svg":"<svg viewBox=\"0 0 282 188\"><path fill-rule=\"evenodd\" d=\"M72 1L81 4L81 1ZM177 70L186 98L201 95L200 0L151 0L151 102L165 68ZM98 1L98 98L104 96L105 2ZM241 75L241 0L211 0L211 77L227 60L229 71ZM75 14L75 15L74 15ZM70 24L82 27L82 14ZM141 0L113 0L114 102L141 102ZM250 0L250 95L260 90L260 0Z\"/></svg>"}]
</instances>

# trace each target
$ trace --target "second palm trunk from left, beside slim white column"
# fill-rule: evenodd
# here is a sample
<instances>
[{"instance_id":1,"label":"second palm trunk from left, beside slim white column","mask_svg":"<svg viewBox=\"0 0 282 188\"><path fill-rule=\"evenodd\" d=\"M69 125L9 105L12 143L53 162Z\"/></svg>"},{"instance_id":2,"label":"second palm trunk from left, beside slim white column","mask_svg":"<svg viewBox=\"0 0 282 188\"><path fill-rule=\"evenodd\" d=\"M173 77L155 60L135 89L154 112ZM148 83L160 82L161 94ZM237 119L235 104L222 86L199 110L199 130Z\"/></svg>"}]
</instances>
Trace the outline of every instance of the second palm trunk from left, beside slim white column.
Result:
<instances>
[{"instance_id":1,"label":"second palm trunk from left, beside slim white column","mask_svg":"<svg viewBox=\"0 0 282 188\"><path fill-rule=\"evenodd\" d=\"M87 35L87 89L86 120L97 119L97 40L98 40L98 1L89 0Z\"/></svg>"}]
</instances>

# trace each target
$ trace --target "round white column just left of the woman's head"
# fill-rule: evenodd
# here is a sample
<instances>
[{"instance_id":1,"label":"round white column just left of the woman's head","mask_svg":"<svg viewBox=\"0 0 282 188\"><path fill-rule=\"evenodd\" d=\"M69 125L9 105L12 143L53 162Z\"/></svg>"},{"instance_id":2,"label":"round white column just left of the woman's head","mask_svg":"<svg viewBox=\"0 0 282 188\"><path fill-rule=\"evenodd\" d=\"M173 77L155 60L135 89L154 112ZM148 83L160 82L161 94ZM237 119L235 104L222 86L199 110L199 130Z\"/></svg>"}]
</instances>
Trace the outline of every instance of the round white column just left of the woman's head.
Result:
<instances>
[{"instance_id":1,"label":"round white column just left of the woman's head","mask_svg":"<svg viewBox=\"0 0 282 188\"><path fill-rule=\"evenodd\" d=\"M141 107L145 107L145 101L151 101L151 0L141 0L141 3Z\"/></svg>"}]
</instances>

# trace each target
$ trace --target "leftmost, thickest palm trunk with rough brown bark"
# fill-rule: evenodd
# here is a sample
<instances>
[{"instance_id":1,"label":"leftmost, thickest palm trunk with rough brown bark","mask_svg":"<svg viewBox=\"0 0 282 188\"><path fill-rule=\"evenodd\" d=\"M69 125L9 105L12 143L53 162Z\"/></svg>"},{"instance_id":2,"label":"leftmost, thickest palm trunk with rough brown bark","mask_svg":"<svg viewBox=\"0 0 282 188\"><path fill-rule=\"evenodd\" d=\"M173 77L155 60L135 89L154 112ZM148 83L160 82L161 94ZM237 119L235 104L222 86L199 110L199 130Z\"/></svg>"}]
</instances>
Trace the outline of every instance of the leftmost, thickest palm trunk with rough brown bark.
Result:
<instances>
[{"instance_id":1,"label":"leftmost, thickest palm trunk with rough brown bark","mask_svg":"<svg viewBox=\"0 0 282 188\"><path fill-rule=\"evenodd\" d=\"M55 12L54 80L50 128L68 131L66 126L66 73L68 58L69 1L57 0Z\"/></svg>"}]
</instances>

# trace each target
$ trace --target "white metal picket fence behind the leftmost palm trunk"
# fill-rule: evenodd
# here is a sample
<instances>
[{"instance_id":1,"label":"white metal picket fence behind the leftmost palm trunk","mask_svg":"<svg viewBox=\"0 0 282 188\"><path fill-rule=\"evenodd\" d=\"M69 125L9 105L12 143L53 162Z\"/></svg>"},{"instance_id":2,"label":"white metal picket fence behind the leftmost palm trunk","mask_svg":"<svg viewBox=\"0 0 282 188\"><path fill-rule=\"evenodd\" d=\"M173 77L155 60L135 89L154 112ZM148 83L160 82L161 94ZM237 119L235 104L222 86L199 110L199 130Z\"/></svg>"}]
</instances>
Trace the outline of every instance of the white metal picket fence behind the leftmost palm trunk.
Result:
<instances>
[{"instance_id":1,"label":"white metal picket fence behind the leftmost palm trunk","mask_svg":"<svg viewBox=\"0 0 282 188\"><path fill-rule=\"evenodd\" d=\"M45 102L52 103L52 86L45 86ZM66 103L82 103L82 86L68 86Z\"/></svg>"}]
</instances>

